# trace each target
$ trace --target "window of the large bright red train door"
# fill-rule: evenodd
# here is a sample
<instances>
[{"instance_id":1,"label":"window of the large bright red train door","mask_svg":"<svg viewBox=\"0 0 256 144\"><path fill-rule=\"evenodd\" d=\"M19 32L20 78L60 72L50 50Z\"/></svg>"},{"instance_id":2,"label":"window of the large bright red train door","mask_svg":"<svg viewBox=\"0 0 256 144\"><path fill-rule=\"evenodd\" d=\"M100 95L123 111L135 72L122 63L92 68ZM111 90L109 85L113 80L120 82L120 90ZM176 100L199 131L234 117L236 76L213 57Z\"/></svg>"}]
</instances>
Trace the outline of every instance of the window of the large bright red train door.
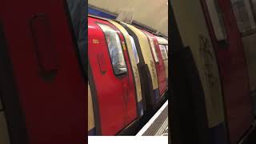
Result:
<instances>
[{"instance_id":1,"label":"window of the large bright red train door","mask_svg":"<svg viewBox=\"0 0 256 144\"><path fill-rule=\"evenodd\" d=\"M112 62L112 66L114 68L114 74L122 75L126 74L126 62L124 55L122 53L122 45L120 38L118 36L118 32L102 23L97 23L100 26L106 36L106 42L108 46L108 50L110 53L110 59Z\"/></svg>"}]
</instances>

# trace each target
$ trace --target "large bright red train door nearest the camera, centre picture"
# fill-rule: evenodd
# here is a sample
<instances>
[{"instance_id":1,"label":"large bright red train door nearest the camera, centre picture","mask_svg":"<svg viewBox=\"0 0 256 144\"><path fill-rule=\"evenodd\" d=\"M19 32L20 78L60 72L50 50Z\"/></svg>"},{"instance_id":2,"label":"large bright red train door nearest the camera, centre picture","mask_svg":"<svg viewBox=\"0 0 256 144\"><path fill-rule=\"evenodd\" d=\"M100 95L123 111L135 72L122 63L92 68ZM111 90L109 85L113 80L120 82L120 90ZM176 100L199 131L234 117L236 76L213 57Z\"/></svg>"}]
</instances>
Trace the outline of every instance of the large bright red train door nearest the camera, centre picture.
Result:
<instances>
[{"instance_id":1,"label":"large bright red train door nearest the camera, centre picture","mask_svg":"<svg viewBox=\"0 0 256 144\"><path fill-rule=\"evenodd\" d=\"M88 28L88 55L97 90L101 132L117 134L137 117L126 45L120 31L109 22L89 17Z\"/></svg>"}]
</instances>

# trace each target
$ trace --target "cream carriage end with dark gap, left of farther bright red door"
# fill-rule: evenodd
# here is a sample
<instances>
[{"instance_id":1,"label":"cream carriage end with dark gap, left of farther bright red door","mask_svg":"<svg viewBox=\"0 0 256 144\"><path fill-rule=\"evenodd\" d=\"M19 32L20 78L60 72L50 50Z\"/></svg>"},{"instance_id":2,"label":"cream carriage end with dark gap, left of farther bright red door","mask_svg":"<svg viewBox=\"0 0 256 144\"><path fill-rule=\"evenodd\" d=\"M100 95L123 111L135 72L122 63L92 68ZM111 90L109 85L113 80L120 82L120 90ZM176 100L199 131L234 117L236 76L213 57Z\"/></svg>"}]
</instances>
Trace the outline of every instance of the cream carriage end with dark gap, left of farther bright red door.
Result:
<instances>
[{"instance_id":1,"label":"cream carriage end with dark gap, left of farther bright red door","mask_svg":"<svg viewBox=\"0 0 256 144\"><path fill-rule=\"evenodd\" d=\"M158 105L160 94L157 70L154 65L154 58L152 56L153 54L151 54L150 43L148 42L148 39L142 30L139 30L138 28L124 22L119 23L134 39L134 44L138 51L138 67L140 69L140 75L144 77L142 78L142 89L145 90L146 93L146 107L147 109L154 109L154 107Z\"/></svg>"}]
</instances>

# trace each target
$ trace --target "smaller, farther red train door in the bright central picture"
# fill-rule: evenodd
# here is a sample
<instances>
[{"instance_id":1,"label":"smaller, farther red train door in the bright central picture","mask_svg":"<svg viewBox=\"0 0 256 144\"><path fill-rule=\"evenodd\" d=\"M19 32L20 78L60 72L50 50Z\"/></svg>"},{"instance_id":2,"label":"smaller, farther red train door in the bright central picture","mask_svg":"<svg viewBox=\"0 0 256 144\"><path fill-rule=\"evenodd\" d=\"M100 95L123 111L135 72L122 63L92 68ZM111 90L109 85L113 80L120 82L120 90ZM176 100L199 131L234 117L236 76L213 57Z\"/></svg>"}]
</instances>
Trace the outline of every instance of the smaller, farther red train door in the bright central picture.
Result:
<instances>
[{"instance_id":1,"label":"smaller, farther red train door in the bright central picture","mask_svg":"<svg viewBox=\"0 0 256 144\"><path fill-rule=\"evenodd\" d=\"M150 43L151 54L154 57L154 65L156 67L157 74L158 74L159 93L160 93L160 96L162 96L166 92L166 89L167 89L166 70L165 70L165 65L163 62L163 58L166 58L166 57L162 57L162 54L161 54L162 49L159 48L158 40L154 37L154 35L150 34L149 32L146 32L145 30L142 30L142 31L144 34L146 34L148 41ZM164 56L166 56L166 55L164 55Z\"/></svg>"}]
</instances>

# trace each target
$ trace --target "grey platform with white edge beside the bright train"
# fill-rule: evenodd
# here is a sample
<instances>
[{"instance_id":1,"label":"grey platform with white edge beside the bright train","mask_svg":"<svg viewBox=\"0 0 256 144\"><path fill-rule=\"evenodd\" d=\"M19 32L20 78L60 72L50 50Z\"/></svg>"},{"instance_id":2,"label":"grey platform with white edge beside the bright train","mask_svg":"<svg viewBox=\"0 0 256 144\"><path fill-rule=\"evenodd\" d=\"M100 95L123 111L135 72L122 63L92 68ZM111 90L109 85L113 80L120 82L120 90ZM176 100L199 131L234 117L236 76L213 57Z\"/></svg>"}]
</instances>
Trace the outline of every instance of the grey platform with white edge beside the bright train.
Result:
<instances>
[{"instance_id":1,"label":"grey platform with white edge beside the bright train","mask_svg":"<svg viewBox=\"0 0 256 144\"><path fill-rule=\"evenodd\" d=\"M168 136L168 100L136 136Z\"/></svg>"}]
</instances>

